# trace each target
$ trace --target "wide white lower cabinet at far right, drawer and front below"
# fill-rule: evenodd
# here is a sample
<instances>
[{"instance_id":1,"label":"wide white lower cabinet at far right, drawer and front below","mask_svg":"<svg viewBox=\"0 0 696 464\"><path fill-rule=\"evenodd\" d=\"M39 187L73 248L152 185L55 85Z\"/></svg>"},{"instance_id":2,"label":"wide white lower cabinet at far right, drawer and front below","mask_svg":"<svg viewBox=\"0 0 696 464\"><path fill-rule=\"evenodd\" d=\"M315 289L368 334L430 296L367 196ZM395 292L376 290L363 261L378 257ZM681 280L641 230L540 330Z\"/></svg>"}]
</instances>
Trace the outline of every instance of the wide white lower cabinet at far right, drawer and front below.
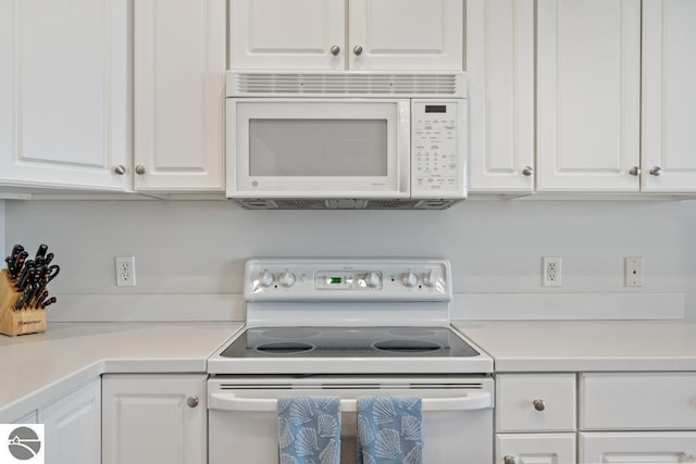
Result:
<instances>
[{"instance_id":1,"label":"wide white lower cabinet at far right, drawer and front below","mask_svg":"<svg viewBox=\"0 0 696 464\"><path fill-rule=\"evenodd\" d=\"M587 373L579 386L580 463L696 463L696 373Z\"/></svg>"}]
</instances>

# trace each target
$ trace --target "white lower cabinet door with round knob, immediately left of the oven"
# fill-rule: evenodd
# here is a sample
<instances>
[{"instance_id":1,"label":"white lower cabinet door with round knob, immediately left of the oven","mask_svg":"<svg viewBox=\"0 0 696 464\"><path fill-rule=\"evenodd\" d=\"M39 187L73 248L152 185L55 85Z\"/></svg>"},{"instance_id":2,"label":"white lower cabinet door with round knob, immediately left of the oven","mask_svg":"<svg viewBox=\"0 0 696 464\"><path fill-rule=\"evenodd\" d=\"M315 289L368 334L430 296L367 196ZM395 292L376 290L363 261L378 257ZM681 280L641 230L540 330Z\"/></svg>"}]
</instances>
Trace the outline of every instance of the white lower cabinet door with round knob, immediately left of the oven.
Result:
<instances>
[{"instance_id":1,"label":"white lower cabinet door with round knob, immediately left of the oven","mask_svg":"<svg viewBox=\"0 0 696 464\"><path fill-rule=\"evenodd\" d=\"M102 464L206 464L201 374L103 376Z\"/></svg>"}]
</instances>

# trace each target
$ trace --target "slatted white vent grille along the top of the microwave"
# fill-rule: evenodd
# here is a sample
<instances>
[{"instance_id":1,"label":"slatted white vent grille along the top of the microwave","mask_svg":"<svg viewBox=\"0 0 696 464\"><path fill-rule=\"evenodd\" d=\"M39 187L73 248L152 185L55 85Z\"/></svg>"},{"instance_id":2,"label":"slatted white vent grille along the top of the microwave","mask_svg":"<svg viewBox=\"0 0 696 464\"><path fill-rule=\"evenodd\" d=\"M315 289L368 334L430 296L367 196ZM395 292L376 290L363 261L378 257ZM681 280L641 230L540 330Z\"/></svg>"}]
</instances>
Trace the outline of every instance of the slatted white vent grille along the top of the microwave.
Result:
<instances>
[{"instance_id":1,"label":"slatted white vent grille along the top of the microwave","mask_svg":"<svg viewBox=\"0 0 696 464\"><path fill-rule=\"evenodd\" d=\"M229 72L228 97L465 98L463 73Z\"/></svg>"}]
</instances>

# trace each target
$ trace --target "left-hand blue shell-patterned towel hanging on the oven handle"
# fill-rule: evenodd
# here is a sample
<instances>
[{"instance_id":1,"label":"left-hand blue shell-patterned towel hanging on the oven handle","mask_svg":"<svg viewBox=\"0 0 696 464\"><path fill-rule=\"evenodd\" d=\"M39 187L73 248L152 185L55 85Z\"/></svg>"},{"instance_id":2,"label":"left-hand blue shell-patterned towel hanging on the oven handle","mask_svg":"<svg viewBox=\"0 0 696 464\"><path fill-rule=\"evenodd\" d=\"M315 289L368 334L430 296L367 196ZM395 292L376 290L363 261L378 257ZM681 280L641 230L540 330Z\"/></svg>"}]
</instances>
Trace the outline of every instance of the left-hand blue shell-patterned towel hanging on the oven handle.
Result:
<instances>
[{"instance_id":1,"label":"left-hand blue shell-patterned towel hanging on the oven handle","mask_svg":"<svg viewBox=\"0 0 696 464\"><path fill-rule=\"evenodd\" d=\"M279 398L281 464L340 463L340 399Z\"/></svg>"}]
</instances>

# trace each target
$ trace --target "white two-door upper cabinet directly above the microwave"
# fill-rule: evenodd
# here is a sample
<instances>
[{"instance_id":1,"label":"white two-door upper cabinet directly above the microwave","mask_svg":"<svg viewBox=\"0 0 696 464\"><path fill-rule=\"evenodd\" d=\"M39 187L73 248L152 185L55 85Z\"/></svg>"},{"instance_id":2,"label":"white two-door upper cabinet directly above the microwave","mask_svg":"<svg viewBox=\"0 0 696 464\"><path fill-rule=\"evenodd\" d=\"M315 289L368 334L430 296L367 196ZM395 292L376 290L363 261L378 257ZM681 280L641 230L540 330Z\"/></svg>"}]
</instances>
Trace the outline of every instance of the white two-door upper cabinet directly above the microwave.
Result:
<instances>
[{"instance_id":1,"label":"white two-door upper cabinet directly above the microwave","mask_svg":"<svg viewBox=\"0 0 696 464\"><path fill-rule=\"evenodd\" d=\"M462 0L231 0L234 70L462 68Z\"/></svg>"}]
</instances>

